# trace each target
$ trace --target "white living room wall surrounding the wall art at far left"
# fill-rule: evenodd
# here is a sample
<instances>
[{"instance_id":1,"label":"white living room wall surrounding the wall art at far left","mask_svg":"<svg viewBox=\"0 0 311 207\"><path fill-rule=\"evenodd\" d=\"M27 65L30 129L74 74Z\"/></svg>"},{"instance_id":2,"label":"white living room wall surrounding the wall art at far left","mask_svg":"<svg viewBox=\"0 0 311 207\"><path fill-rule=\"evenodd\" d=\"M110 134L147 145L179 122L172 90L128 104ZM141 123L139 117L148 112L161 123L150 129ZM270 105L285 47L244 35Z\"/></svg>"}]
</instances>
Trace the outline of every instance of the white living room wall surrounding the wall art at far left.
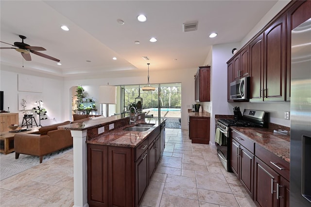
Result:
<instances>
[{"instance_id":1,"label":"white living room wall surrounding the wall art at far left","mask_svg":"<svg viewBox=\"0 0 311 207\"><path fill-rule=\"evenodd\" d=\"M17 74L29 74L32 76L38 76L37 73L32 71L12 68L9 66L1 65L0 70L0 90L4 91L4 110L7 110L8 103L10 104L10 112L19 113L19 124L22 123L24 114L18 110L18 92L17 91ZM42 74L41 74L42 75ZM44 75L47 76L47 75ZM66 104L63 99L64 80L59 77L43 77L43 92L40 93L43 107L47 110L47 120L41 121L41 125L49 125L51 123L64 121L63 111ZM27 101L27 100L26 100ZM39 100L38 100L39 101ZM29 108L30 109L30 108ZM35 115L35 120L39 124L39 117Z\"/></svg>"}]
</instances>

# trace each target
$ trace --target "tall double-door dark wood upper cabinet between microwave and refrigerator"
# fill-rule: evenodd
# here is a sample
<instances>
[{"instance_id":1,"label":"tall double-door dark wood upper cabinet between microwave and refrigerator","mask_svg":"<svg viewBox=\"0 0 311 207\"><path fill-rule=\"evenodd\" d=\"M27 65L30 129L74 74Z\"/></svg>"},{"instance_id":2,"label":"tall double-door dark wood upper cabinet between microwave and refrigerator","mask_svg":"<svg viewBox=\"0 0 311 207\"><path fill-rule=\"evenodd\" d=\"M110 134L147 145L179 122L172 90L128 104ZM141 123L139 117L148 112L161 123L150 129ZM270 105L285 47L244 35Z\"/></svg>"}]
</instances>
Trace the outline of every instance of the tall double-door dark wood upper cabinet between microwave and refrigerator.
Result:
<instances>
[{"instance_id":1,"label":"tall double-door dark wood upper cabinet between microwave and refrigerator","mask_svg":"<svg viewBox=\"0 0 311 207\"><path fill-rule=\"evenodd\" d=\"M250 43L250 102L286 100L286 16Z\"/></svg>"}]
</instances>

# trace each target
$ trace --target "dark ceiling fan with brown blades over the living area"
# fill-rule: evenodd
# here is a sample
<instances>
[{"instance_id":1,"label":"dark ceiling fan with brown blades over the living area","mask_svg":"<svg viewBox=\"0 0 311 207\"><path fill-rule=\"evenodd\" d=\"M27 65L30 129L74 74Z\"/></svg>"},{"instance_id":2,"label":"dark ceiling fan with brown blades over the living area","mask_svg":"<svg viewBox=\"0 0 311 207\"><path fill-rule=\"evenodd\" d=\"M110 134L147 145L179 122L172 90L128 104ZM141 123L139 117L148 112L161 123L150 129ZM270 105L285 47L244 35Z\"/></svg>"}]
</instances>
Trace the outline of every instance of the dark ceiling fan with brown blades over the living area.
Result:
<instances>
[{"instance_id":1,"label":"dark ceiling fan with brown blades over the living area","mask_svg":"<svg viewBox=\"0 0 311 207\"><path fill-rule=\"evenodd\" d=\"M17 52L20 52L21 53L21 56L23 56L23 58L27 61L30 61L31 60L31 56L30 56L30 52L31 53L34 53L36 55L39 55L41 57L45 57L45 58L48 58L50 60L53 60L53 61L56 61L56 62L59 62L60 60L59 59L56 59L54 57L51 57L47 54L43 54L41 52L38 52L38 51L46 51L45 48L42 48L42 47L35 47L35 46L30 46L26 43L24 43L24 39L26 39L25 36L23 35L18 35L20 38L21 38L21 42L14 42L14 47L16 48L0 48L0 49L15 49ZM0 41L2 42L2 41ZM5 43L5 44L8 44L8 45L11 45L9 43L6 43L6 42L2 42L2 43Z\"/></svg>"}]
</instances>

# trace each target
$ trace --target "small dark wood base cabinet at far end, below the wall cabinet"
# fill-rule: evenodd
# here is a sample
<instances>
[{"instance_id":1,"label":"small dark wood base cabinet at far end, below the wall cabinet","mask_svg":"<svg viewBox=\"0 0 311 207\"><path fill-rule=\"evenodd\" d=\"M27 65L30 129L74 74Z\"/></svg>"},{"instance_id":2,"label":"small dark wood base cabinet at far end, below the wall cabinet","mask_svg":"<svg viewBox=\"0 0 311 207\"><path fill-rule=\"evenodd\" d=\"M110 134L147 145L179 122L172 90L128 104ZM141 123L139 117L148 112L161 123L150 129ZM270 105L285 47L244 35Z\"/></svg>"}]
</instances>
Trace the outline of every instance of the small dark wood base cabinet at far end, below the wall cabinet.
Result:
<instances>
[{"instance_id":1,"label":"small dark wood base cabinet at far end, below the wall cabinet","mask_svg":"<svg viewBox=\"0 0 311 207\"><path fill-rule=\"evenodd\" d=\"M209 117L189 117L191 143L209 143Z\"/></svg>"}]
</instances>

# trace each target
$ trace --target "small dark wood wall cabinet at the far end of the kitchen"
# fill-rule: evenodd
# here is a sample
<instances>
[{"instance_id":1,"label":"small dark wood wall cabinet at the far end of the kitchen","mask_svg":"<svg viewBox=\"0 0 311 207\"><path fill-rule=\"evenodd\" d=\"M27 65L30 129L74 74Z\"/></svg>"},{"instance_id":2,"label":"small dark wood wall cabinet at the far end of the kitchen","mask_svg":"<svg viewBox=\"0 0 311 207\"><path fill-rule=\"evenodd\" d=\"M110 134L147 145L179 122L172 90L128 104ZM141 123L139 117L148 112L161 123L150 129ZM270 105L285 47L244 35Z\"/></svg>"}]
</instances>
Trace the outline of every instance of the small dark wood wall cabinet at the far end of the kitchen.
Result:
<instances>
[{"instance_id":1,"label":"small dark wood wall cabinet at the far end of the kitchen","mask_svg":"<svg viewBox=\"0 0 311 207\"><path fill-rule=\"evenodd\" d=\"M196 102L210 101L210 66L198 68L195 74L194 94Z\"/></svg>"}]
</instances>

